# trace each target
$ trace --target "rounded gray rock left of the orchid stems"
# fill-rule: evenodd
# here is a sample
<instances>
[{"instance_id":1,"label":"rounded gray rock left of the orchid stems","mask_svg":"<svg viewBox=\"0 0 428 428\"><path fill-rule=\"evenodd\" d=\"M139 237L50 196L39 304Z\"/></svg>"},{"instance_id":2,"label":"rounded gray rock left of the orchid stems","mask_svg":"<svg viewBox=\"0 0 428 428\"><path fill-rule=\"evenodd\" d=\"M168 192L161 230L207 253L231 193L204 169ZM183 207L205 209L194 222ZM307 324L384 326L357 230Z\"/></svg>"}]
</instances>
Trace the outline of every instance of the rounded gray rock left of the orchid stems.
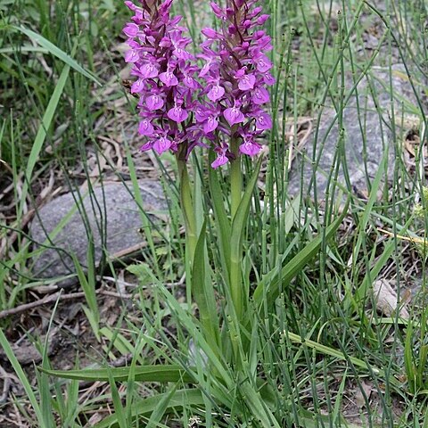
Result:
<instances>
[{"instance_id":1,"label":"rounded gray rock left of the orchid stems","mask_svg":"<svg viewBox=\"0 0 428 428\"><path fill-rule=\"evenodd\" d=\"M128 186L128 188L127 188ZM139 182L144 211L149 218L160 223L167 203L161 184L152 180ZM92 193L65 193L38 210L29 232L35 242L34 263L31 268L37 278L59 279L56 284L68 287L76 284L75 264L78 259L87 267L88 236L92 235L95 266L103 258L126 254L128 250L144 245L142 220L132 193L132 183L110 183L95 187ZM128 190L129 189L129 190ZM131 193L130 193L131 192ZM78 204L76 203L83 199ZM45 248L45 246L49 248Z\"/></svg>"}]
</instances>

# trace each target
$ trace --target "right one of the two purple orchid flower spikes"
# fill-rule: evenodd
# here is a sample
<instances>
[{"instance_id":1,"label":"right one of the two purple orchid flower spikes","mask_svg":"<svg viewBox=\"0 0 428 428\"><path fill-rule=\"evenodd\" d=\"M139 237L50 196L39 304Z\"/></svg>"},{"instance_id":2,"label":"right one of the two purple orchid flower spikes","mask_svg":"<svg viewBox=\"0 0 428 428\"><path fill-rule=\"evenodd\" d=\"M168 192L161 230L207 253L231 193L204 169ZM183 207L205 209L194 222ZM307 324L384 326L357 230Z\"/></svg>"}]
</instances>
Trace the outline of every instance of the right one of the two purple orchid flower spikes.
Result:
<instances>
[{"instance_id":1,"label":"right one of the two purple orchid flower spikes","mask_svg":"<svg viewBox=\"0 0 428 428\"><path fill-rule=\"evenodd\" d=\"M222 8L211 3L214 14L222 21L222 29L202 29L205 37L201 45L203 53L197 56L204 61L199 77L205 81L203 94L208 101L201 103L202 112L197 111L195 118L206 134L209 106L217 103L219 111L215 133L241 139L233 154L227 147L229 157L223 146L221 150L216 149L218 159L214 162L215 168L225 164L229 158L234 161L239 154L255 156L260 145L254 137L272 128L272 119L265 110L270 100L266 86L275 83L269 72L272 62L266 55L272 44L266 32L257 29L268 20L268 15L262 14L262 7L256 4L257 0L226 0L226 7Z\"/></svg>"}]
</instances>

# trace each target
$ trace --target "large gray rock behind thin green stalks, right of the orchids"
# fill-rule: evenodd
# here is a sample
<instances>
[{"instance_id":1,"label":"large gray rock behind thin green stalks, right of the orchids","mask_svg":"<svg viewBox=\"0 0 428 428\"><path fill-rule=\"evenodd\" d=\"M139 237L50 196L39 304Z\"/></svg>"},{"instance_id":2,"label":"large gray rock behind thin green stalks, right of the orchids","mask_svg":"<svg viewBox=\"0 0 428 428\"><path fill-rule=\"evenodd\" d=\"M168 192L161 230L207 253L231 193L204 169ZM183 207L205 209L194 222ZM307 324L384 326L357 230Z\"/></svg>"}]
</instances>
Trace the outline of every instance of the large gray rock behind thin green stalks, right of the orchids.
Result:
<instances>
[{"instance_id":1,"label":"large gray rock behind thin green stalks, right of the orchids","mask_svg":"<svg viewBox=\"0 0 428 428\"><path fill-rule=\"evenodd\" d=\"M408 81L404 66L402 64L392 66L393 103L391 103L389 75L388 69L373 67L368 77L358 83L357 89L352 92L343 110L343 152L340 158L338 183L348 187L343 168L343 163L346 162L350 192L366 193L367 180L373 182L386 149L389 157L387 178L391 178L395 159L391 129L395 126L399 131L401 118L404 116L406 119L408 114L414 114L418 109L416 95ZM346 80L345 94L349 94L354 83L350 76L346 76ZM395 125L391 120L392 105ZM314 128L317 128L317 122ZM324 108L317 133L312 133L306 145L306 153L298 155L292 164L288 188L290 194L300 192L300 181L303 176L303 195L313 197L314 186L316 186L317 199L325 198L327 177L332 165L336 165L334 159L340 137L341 130L336 111L333 108ZM313 159L318 162L315 179L312 178Z\"/></svg>"}]
</instances>

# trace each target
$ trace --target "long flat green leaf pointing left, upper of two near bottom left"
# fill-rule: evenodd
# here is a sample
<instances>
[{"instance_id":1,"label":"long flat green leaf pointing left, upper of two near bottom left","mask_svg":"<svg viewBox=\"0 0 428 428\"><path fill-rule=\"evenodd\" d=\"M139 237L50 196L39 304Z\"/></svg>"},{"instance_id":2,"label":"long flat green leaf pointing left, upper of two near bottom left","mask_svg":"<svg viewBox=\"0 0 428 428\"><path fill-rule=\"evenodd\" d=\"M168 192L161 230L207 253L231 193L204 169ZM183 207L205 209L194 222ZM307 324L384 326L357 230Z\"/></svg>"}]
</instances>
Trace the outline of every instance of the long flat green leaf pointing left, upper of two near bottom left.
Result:
<instances>
[{"instance_id":1,"label":"long flat green leaf pointing left, upper of two near bottom left","mask_svg":"<svg viewBox=\"0 0 428 428\"><path fill-rule=\"evenodd\" d=\"M116 382L128 381L130 367L111 368L86 368L82 370L46 370L40 368L42 372L64 379L78 379L80 381L103 381L109 382L111 373ZM194 379L187 374L183 368L176 365L164 366L136 366L136 382L183 382L194 383Z\"/></svg>"}]
</instances>

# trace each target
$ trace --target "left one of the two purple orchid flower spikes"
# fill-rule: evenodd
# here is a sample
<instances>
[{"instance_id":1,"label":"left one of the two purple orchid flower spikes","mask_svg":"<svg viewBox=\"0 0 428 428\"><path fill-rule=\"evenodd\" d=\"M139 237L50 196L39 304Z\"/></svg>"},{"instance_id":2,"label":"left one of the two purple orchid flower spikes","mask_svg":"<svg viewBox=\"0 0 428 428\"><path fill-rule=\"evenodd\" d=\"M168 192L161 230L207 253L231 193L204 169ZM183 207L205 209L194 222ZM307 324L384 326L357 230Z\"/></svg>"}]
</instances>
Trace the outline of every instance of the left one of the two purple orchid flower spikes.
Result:
<instances>
[{"instance_id":1,"label":"left one of the two purple orchid flower spikes","mask_svg":"<svg viewBox=\"0 0 428 428\"><path fill-rule=\"evenodd\" d=\"M186 29L179 25L182 17L170 16L172 3L126 2L134 16L123 29L130 48L125 56L133 64L131 74L136 76L131 91L139 95L137 108L142 119L138 133L149 140L141 150L187 156L195 137L194 132L186 131L193 126L193 115L189 117L188 111L202 86L195 78L200 68L186 50L192 39L185 37Z\"/></svg>"}]
</instances>

